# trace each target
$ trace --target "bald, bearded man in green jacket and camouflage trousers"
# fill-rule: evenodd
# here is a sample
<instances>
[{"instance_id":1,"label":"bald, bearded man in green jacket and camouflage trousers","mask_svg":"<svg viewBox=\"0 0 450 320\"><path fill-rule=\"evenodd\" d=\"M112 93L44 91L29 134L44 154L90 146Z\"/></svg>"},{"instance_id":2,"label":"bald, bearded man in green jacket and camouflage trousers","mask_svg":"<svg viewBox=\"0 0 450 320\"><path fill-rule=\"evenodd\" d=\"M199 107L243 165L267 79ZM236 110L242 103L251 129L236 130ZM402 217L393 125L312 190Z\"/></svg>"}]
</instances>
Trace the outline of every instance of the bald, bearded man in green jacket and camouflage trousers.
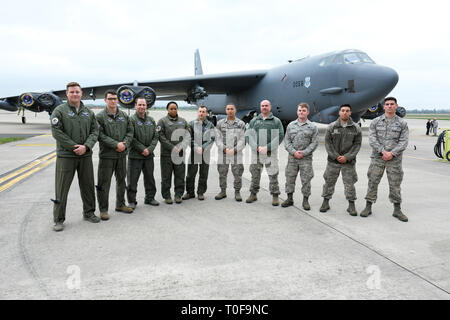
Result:
<instances>
[{"instance_id":1,"label":"bald, bearded man in green jacket and camouflage trousers","mask_svg":"<svg viewBox=\"0 0 450 320\"><path fill-rule=\"evenodd\" d=\"M246 132L247 141L252 150L252 164L250 165L252 181L250 196L246 202L252 203L257 200L256 195L260 188L261 172L263 167L266 166L272 205L278 206L278 195L280 194L278 146L283 141L284 129L281 120L272 114L272 105L269 100L261 101L260 109L261 113L250 121Z\"/></svg>"}]
</instances>

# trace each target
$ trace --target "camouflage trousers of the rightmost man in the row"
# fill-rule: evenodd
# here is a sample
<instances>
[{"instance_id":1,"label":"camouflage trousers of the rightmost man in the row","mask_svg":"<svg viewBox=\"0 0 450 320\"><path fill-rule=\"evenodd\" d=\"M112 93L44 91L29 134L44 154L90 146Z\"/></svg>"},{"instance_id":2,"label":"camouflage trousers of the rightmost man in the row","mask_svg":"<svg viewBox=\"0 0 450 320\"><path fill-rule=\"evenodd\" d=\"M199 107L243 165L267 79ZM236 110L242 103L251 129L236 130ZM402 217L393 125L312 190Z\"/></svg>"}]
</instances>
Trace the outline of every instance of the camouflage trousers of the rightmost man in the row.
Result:
<instances>
[{"instance_id":1,"label":"camouflage trousers of the rightmost man in the row","mask_svg":"<svg viewBox=\"0 0 450 320\"><path fill-rule=\"evenodd\" d=\"M391 200L392 203L401 203L402 196L400 185L402 184L403 180L401 158L394 158L390 161L372 158L369 170L367 171L369 186L367 189L366 200L372 203L375 203L375 201L377 200L378 184L383 177L385 169L389 182L389 200Z\"/></svg>"}]
</instances>

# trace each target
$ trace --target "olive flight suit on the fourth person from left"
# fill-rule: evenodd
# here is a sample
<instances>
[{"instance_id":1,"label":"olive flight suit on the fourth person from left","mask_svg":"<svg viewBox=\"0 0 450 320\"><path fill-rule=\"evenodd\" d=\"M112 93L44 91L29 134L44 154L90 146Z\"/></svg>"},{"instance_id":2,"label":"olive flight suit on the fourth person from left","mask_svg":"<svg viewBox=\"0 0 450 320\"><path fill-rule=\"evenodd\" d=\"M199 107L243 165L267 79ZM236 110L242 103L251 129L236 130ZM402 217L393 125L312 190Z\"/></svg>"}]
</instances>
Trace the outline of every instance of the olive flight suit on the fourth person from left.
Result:
<instances>
[{"instance_id":1,"label":"olive flight suit on the fourth person from left","mask_svg":"<svg viewBox=\"0 0 450 320\"><path fill-rule=\"evenodd\" d=\"M180 116L167 115L158 121L158 134L161 143L161 195L170 199L172 173L174 176L175 198L183 196L186 165L184 150L189 146L191 135L189 124ZM179 154L173 152L175 146L183 149Z\"/></svg>"}]
</instances>

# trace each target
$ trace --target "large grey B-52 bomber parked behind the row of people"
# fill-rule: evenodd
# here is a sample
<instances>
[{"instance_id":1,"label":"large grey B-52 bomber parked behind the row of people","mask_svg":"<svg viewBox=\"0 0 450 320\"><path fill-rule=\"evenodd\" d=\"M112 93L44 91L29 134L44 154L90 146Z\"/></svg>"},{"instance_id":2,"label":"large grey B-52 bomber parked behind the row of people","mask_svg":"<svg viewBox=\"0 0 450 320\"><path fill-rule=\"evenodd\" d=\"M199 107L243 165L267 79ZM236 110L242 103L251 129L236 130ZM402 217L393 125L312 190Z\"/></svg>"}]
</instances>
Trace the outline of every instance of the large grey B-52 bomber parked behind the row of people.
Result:
<instances>
[{"instance_id":1,"label":"large grey B-52 bomber parked behind the row of people","mask_svg":"<svg viewBox=\"0 0 450 320\"><path fill-rule=\"evenodd\" d=\"M320 123L335 121L339 106L348 103L353 120L358 122L368 107L378 105L398 82L395 70L353 49L289 61L268 70L222 74L203 74L197 50L194 64L194 76L83 87L83 99L103 98L107 89L114 89L120 105L126 108L134 107L137 96L144 96L149 106L155 100L184 100L208 106L213 121L225 113L227 103L234 103L236 116L246 122L259 111L260 101L268 99L273 114L286 126L297 118L300 102L311 106L309 119ZM65 98L65 90L29 92L0 98L0 108L51 113Z\"/></svg>"}]
</instances>

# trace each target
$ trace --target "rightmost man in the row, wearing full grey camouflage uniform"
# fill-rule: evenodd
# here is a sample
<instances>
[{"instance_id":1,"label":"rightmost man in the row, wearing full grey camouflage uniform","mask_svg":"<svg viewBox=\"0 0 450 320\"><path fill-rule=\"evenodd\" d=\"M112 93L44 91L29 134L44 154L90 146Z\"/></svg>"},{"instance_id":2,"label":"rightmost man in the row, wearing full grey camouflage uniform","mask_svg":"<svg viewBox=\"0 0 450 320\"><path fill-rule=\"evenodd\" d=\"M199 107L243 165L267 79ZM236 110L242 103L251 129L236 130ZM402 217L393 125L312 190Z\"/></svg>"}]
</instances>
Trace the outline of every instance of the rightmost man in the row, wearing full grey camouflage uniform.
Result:
<instances>
[{"instance_id":1,"label":"rightmost man in the row, wearing full grey camouflage uniform","mask_svg":"<svg viewBox=\"0 0 450 320\"><path fill-rule=\"evenodd\" d=\"M384 100L384 115L372 120L369 129L369 143L372 147L372 160L367 172L369 185L366 207L361 217L372 214L372 203L377 200L378 184L384 171L389 181L389 199L394 204L393 216L407 222L408 217L400 208L402 202L400 185L403 180L402 154L408 146L409 130L406 121L395 114L397 100L388 97Z\"/></svg>"}]
</instances>

